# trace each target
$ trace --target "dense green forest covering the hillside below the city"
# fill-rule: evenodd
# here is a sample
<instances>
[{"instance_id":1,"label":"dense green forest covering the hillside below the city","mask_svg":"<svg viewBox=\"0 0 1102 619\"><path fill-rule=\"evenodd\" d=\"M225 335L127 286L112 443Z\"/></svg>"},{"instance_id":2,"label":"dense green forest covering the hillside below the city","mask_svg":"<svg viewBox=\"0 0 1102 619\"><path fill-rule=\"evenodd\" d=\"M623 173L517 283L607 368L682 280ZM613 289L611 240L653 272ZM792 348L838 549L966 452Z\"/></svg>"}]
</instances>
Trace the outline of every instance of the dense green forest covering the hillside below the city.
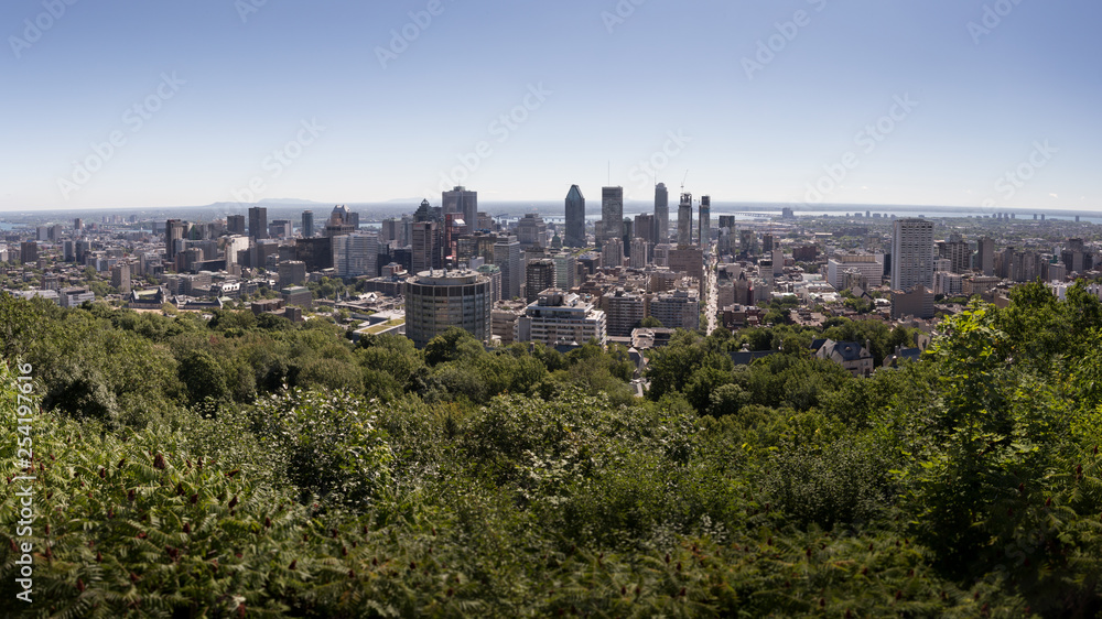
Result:
<instances>
[{"instance_id":1,"label":"dense green forest covering the hillside below the city","mask_svg":"<svg viewBox=\"0 0 1102 619\"><path fill-rule=\"evenodd\" d=\"M857 379L812 338L423 350L333 323L0 297L18 617L1096 617L1102 303L973 302ZM744 346L775 355L735 366ZM18 368L33 458L17 468ZM15 536L15 477L36 518ZM15 598L30 540L34 601Z\"/></svg>"}]
</instances>

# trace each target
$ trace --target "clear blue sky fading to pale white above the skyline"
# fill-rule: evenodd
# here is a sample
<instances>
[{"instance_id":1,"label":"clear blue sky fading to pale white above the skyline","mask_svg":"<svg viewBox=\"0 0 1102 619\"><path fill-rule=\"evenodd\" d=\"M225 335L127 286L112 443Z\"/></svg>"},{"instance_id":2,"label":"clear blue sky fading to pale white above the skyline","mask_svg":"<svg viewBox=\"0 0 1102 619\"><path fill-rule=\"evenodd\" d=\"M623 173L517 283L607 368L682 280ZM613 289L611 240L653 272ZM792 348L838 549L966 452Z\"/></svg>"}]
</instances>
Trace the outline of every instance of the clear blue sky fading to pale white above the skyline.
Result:
<instances>
[{"instance_id":1,"label":"clear blue sky fading to pale white above the skyline","mask_svg":"<svg viewBox=\"0 0 1102 619\"><path fill-rule=\"evenodd\" d=\"M1096 0L6 0L0 210L1102 210ZM676 198L671 198L676 202Z\"/></svg>"}]
</instances>

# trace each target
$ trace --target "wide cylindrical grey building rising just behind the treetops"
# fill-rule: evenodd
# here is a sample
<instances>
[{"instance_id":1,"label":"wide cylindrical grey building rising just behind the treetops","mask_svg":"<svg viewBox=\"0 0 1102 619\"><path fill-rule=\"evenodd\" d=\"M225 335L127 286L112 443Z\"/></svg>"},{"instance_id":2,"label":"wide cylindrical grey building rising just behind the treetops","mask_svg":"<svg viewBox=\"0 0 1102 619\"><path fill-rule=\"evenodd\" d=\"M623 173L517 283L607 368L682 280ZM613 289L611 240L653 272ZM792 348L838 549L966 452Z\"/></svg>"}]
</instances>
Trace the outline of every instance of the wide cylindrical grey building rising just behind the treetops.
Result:
<instances>
[{"instance_id":1,"label":"wide cylindrical grey building rising just behind the treetops","mask_svg":"<svg viewBox=\"0 0 1102 619\"><path fill-rule=\"evenodd\" d=\"M519 247L519 245L518 245ZM494 308L489 278L475 271L422 271L406 286L406 337L418 348L460 327L489 341Z\"/></svg>"}]
</instances>

